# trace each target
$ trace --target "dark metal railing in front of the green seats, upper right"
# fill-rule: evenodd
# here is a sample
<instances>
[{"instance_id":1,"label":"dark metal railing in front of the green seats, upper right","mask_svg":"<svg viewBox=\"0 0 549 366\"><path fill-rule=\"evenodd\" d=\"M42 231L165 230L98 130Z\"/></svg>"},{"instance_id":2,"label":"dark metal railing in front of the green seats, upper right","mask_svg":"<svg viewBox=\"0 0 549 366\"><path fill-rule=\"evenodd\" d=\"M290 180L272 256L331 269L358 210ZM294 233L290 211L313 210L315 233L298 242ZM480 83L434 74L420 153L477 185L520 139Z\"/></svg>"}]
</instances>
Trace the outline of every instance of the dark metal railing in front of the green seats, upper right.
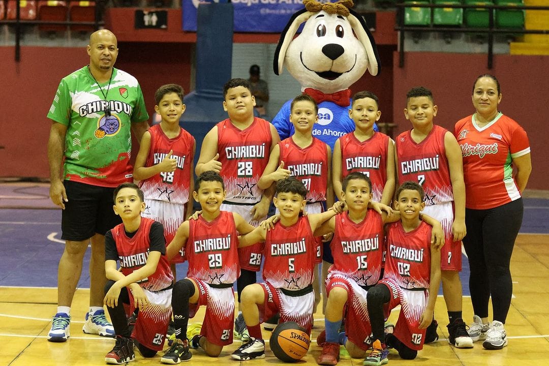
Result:
<instances>
[{"instance_id":1,"label":"dark metal railing in front of the green seats, upper right","mask_svg":"<svg viewBox=\"0 0 549 366\"><path fill-rule=\"evenodd\" d=\"M492 69L494 64L494 35L498 33L523 33L523 34L549 34L549 29L517 29L517 28L502 28L496 27L494 24L495 10L549 10L549 7L537 7L526 5L466 5L466 4L411 4L411 3L398 3L395 5L397 8L397 22L395 30L399 31L399 67L404 67L404 35L405 32L458 32L458 33L487 33L488 35L488 69ZM431 12L431 19L429 26L417 26L417 25L405 25L404 24L404 8L457 8L457 9L488 9L488 28L486 27L449 27L433 25L433 11Z\"/></svg>"}]
</instances>

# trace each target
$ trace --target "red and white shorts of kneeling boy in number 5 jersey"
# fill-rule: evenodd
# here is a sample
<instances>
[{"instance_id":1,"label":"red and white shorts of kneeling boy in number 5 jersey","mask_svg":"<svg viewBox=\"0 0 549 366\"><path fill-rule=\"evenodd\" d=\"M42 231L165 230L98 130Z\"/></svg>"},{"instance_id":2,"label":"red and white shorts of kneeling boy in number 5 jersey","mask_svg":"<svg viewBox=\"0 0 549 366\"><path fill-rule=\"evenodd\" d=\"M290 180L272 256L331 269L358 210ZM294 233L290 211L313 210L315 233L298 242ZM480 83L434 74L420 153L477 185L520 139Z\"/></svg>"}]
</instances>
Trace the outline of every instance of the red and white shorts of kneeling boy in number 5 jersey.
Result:
<instances>
[{"instance_id":1,"label":"red and white shorts of kneeling boy in number 5 jersey","mask_svg":"<svg viewBox=\"0 0 549 366\"><path fill-rule=\"evenodd\" d=\"M277 289L267 282L259 285L265 293L263 306L258 306L260 323L280 314L280 323L296 322L305 328L307 334L311 334L312 312L315 305L315 292L312 290L312 285L298 291Z\"/></svg>"}]
</instances>

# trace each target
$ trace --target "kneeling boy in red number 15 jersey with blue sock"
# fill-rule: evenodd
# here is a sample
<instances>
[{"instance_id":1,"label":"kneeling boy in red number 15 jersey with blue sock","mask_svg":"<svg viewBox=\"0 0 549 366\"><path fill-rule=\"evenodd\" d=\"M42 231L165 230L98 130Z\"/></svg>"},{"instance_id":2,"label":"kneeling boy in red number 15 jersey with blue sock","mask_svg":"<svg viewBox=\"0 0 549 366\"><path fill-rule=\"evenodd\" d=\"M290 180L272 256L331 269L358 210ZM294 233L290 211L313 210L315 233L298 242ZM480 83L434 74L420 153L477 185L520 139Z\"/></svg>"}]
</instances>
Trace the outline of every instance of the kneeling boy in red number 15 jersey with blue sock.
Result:
<instances>
[{"instance_id":1,"label":"kneeling boy in red number 15 jersey with blue sock","mask_svg":"<svg viewBox=\"0 0 549 366\"><path fill-rule=\"evenodd\" d=\"M323 347L317 359L321 365L337 364L340 343L345 345L353 358L364 357L371 346L367 337L371 333L366 305L367 291L377 284L382 273L383 225L400 218L398 213L388 216L386 212L379 214L376 210L368 209L372 197L371 184L366 174L361 172L352 172L346 176L341 198L349 210L330 218L322 226L323 230L334 233L330 243L334 264L329 269L326 285L326 331L321 332L317 339L317 344ZM389 207L385 209L391 212ZM438 234L442 245L444 233L440 223L426 215L422 219L437 226L433 233ZM339 328L344 316L346 337L340 340Z\"/></svg>"}]
</instances>

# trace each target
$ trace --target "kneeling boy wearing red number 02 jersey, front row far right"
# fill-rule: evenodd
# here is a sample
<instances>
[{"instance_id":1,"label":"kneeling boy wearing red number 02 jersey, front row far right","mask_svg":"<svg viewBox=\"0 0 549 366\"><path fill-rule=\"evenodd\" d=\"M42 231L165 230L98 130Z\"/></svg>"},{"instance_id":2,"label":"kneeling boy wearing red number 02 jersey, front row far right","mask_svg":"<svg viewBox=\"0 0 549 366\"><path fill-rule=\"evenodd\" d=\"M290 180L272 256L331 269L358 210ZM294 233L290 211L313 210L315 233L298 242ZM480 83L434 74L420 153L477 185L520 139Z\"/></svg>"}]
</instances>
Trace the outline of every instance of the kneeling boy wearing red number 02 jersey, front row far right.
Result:
<instances>
[{"instance_id":1,"label":"kneeling boy wearing red number 02 jersey, front row far right","mask_svg":"<svg viewBox=\"0 0 549 366\"><path fill-rule=\"evenodd\" d=\"M423 348L425 329L433 320L440 285L440 250L430 244L432 228L419 218L423 210L423 189L405 182L396 191L395 209L400 221L387 232L387 256L383 279L368 290L367 303L372 326L372 351L363 364L379 366L389 362L387 347L400 357L414 359ZM384 334L384 319L400 305L394 333Z\"/></svg>"}]
</instances>

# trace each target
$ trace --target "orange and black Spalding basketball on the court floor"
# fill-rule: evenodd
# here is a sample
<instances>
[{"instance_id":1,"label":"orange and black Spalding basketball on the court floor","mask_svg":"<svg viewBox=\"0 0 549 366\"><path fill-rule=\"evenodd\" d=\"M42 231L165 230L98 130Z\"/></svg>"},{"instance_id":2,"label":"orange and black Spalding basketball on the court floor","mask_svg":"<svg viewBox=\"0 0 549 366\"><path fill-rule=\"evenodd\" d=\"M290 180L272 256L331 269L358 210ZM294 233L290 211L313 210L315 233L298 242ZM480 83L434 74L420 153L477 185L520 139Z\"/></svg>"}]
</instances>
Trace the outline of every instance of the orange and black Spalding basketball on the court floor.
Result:
<instances>
[{"instance_id":1,"label":"orange and black Spalding basketball on the court floor","mask_svg":"<svg viewBox=\"0 0 549 366\"><path fill-rule=\"evenodd\" d=\"M305 329L295 322L278 324L269 344L275 356L284 362L297 362L309 351L311 340Z\"/></svg>"}]
</instances>

